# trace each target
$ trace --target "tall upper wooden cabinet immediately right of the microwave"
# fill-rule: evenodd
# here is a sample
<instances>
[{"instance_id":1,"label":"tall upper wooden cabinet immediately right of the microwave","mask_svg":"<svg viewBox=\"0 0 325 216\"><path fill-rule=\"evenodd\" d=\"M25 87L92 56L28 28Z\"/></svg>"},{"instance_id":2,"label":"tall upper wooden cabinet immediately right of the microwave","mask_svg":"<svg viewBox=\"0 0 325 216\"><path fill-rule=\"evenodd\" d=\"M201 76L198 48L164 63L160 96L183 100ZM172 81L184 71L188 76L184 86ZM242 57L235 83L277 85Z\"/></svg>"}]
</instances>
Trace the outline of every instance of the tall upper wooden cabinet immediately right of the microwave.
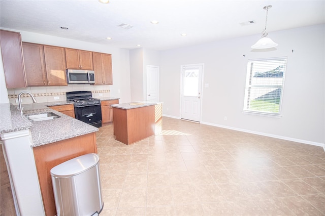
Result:
<instances>
[{"instance_id":1,"label":"tall upper wooden cabinet immediately right of the microwave","mask_svg":"<svg viewBox=\"0 0 325 216\"><path fill-rule=\"evenodd\" d=\"M112 55L106 53L92 53L93 70L95 71L95 85L111 85Z\"/></svg>"}]
</instances>

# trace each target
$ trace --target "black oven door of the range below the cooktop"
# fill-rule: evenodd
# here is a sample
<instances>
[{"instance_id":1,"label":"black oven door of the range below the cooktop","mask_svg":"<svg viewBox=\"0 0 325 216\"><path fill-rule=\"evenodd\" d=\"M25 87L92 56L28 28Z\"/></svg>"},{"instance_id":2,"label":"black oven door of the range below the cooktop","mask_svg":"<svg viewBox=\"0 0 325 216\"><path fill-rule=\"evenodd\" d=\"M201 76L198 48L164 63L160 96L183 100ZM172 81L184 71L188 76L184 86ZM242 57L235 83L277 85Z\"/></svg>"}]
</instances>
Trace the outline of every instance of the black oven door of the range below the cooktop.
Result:
<instances>
[{"instance_id":1,"label":"black oven door of the range below the cooktop","mask_svg":"<svg viewBox=\"0 0 325 216\"><path fill-rule=\"evenodd\" d=\"M102 126L101 105L75 106L76 119L95 127Z\"/></svg>"}]
</instances>

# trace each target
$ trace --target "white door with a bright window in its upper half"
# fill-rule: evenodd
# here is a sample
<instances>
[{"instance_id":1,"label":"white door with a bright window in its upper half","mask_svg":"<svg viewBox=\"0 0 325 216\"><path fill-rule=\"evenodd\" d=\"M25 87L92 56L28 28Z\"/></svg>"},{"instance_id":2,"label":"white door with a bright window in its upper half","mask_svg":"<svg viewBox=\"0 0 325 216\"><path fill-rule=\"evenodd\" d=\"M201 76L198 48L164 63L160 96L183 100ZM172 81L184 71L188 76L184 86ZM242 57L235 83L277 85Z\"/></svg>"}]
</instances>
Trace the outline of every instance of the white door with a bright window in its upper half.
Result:
<instances>
[{"instance_id":1,"label":"white door with a bright window in its upper half","mask_svg":"<svg viewBox=\"0 0 325 216\"><path fill-rule=\"evenodd\" d=\"M203 65L182 66L181 118L200 122Z\"/></svg>"}]
</instances>

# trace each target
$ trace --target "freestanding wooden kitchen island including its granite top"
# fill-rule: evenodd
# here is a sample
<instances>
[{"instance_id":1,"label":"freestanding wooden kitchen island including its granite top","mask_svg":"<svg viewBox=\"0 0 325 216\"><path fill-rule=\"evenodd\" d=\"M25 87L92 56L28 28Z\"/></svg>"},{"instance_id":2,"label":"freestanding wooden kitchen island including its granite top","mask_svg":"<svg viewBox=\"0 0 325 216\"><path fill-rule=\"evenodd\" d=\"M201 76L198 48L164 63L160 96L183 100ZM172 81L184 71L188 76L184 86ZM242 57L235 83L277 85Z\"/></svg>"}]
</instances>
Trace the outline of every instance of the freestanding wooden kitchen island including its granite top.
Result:
<instances>
[{"instance_id":1,"label":"freestanding wooden kitchen island including its granite top","mask_svg":"<svg viewBox=\"0 0 325 216\"><path fill-rule=\"evenodd\" d=\"M131 145L161 132L163 103L140 101L111 106L117 141Z\"/></svg>"}]
</instances>

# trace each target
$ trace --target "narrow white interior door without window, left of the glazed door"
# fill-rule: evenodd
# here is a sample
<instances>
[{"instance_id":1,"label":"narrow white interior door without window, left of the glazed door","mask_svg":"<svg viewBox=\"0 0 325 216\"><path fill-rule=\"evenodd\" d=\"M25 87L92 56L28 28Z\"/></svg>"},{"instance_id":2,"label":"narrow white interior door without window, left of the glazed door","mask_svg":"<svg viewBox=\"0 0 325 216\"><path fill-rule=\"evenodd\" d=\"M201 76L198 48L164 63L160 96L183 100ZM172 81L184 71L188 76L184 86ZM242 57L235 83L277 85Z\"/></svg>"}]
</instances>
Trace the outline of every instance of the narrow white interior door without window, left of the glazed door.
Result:
<instances>
[{"instance_id":1,"label":"narrow white interior door without window, left of the glazed door","mask_svg":"<svg viewBox=\"0 0 325 216\"><path fill-rule=\"evenodd\" d=\"M147 101L159 101L159 66L147 65Z\"/></svg>"}]
</instances>

